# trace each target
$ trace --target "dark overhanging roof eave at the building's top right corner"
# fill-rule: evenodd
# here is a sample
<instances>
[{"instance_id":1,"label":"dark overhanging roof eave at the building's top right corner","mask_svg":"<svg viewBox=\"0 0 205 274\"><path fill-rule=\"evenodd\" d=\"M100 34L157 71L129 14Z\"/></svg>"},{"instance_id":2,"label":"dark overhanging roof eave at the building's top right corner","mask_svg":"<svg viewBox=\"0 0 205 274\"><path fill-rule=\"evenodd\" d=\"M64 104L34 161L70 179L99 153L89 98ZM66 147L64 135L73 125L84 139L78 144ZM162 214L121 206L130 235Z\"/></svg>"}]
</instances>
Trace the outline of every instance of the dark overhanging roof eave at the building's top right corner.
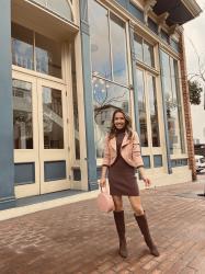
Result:
<instances>
[{"instance_id":1,"label":"dark overhanging roof eave at the building's top right corner","mask_svg":"<svg viewBox=\"0 0 205 274\"><path fill-rule=\"evenodd\" d=\"M182 25L193 20L200 15L202 9L195 0L157 0L153 12L157 15L168 12L167 24L171 26Z\"/></svg>"}]
</instances>

